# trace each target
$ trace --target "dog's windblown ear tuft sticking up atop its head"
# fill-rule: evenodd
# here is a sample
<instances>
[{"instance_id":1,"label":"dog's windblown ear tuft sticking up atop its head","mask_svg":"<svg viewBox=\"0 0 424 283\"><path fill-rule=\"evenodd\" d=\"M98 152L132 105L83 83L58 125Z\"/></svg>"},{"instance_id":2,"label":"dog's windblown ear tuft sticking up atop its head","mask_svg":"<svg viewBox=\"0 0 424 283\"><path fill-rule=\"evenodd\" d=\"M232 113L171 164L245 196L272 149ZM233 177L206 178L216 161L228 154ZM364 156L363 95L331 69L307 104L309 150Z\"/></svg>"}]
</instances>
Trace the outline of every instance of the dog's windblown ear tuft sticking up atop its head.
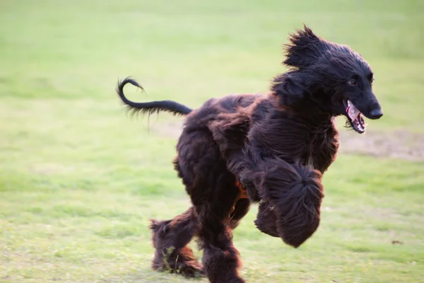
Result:
<instances>
[{"instance_id":1,"label":"dog's windblown ear tuft sticking up atop its head","mask_svg":"<svg viewBox=\"0 0 424 283\"><path fill-rule=\"evenodd\" d=\"M329 42L319 38L306 25L303 30L290 35L289 40L290 43L284 45L286 59L283 62L288 67L306 68L317 62L329 48Z\"/></svg>"}]
</instances>

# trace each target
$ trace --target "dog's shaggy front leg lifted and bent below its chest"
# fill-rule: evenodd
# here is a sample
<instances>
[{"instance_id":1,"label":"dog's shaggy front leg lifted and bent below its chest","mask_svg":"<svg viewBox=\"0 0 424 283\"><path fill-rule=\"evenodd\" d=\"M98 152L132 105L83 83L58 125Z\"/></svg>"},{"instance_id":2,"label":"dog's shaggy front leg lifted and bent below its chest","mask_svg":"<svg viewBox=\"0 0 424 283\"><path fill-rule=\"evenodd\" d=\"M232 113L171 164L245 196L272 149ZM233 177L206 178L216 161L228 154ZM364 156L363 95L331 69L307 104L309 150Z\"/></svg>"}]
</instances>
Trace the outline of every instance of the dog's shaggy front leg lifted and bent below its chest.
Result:
<instances>
[{"instance_id":1,"label":"dog's shaggy front leg lifted and bent below its chest","mask_svg":"<svg viewBox=\"0 0 424 283\"><path fill-rule=\"evenodd\" d=\"M317 230L324 197L319 171L281 158L264 158L246 167L242 176L261 197L255 221L259 230L295 248Z\"/></svg>"}]
</instances>

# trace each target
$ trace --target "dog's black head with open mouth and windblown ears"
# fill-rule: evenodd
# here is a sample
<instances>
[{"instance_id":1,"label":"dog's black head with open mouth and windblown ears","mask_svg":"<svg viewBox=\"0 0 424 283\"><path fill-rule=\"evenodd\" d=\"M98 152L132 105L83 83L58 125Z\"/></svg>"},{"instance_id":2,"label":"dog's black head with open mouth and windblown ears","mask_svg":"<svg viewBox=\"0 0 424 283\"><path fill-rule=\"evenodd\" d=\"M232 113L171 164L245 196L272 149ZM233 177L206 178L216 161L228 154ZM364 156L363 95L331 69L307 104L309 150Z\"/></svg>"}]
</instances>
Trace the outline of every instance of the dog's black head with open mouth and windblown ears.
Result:
<instances>
[{"instance_id":1,"label":"dog's black head with open mouth and windblown ears","mask_svg":"<svg viewBox=\"0 0 424 283\"><path fill-rule=\"evenodd\" d=\"M373 74L360 54L347 45L323 40L310 28L290 36L283 64L291 71L279 82L291 84L286 91L310 96L331 115L345 115L356 132L365 132L363 115L382 117L382 108L372 92ZM278 82L278 80L277 80Z\"/></svg>"}]
</instances>

